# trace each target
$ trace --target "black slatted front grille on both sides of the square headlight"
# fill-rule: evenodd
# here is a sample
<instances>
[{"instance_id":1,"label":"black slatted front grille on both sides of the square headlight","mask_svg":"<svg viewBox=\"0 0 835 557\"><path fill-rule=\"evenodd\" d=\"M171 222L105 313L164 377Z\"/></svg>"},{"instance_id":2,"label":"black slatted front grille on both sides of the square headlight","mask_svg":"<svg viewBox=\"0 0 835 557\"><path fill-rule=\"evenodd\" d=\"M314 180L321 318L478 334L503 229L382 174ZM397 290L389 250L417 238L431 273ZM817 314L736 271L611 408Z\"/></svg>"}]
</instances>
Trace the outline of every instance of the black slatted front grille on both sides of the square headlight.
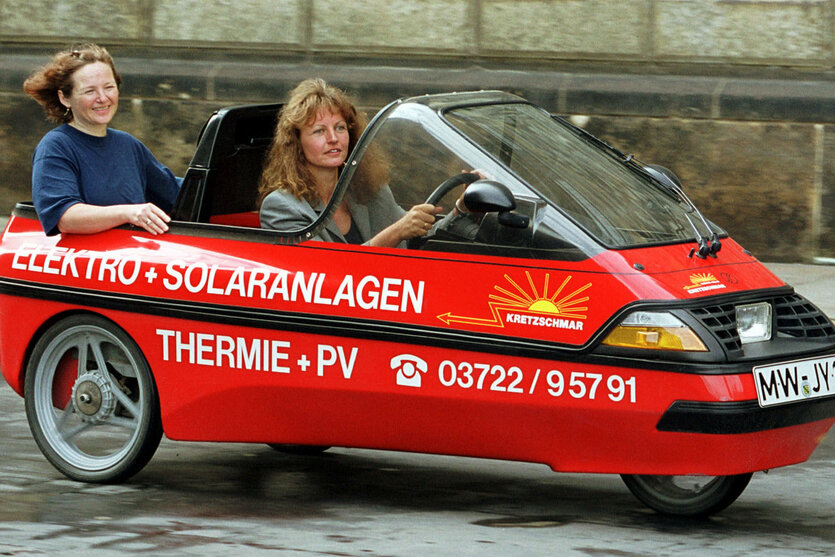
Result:
<instances>
[{"instance_id":1,"label":"black slatted front grille on both sides of the square headlight","mask_svg":"<svg viewBox=\"0 0 835 557\"><path fill-rule=\"evenodd\" d=\"M769 298L774 315L774 334L794 338L825 339L835 337L832 322L809 300L799 294ZM746 303L750 303L746 301ZM725 303L691 310L702 324L722 343L729 354L741 350L736 331L736 304Z\"/></svg>"}]
</instances>

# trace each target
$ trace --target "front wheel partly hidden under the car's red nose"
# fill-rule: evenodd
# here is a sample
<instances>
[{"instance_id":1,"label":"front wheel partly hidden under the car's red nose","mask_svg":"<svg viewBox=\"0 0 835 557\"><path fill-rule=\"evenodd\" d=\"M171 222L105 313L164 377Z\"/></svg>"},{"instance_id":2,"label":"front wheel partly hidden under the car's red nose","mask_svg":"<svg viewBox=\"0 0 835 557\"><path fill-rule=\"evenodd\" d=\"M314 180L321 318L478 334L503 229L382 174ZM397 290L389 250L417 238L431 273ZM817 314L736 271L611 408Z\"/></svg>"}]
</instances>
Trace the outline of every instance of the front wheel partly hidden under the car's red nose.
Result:
<instances>
[{"instance_id":1,"label":"front wheel partly hidden under the car's red nose","mask_svg":"<svg viewBox=\"0 0 835 557\"><path fill-rule=\"evenodd\" d=\"M706 517L718 513L742 494L751 474L735 476L636 476L621 478L646 506L663 514Z\"/></svg>"}]
</instances>

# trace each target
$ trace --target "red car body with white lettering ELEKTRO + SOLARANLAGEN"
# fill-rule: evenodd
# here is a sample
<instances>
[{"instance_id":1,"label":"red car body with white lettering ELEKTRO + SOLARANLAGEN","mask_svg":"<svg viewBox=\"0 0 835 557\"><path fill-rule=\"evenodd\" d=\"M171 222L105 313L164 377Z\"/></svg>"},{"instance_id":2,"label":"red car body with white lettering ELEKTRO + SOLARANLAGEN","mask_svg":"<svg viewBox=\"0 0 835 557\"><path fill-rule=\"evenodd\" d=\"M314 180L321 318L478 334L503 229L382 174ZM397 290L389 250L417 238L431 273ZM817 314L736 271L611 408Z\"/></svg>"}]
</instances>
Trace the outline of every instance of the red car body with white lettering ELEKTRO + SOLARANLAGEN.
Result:
<instances>
[{"instance_id":1,"label":"red car body with white lettering ELEKTRO + SOLARANLAGEN","mask_svg":"<svg viewBox=\"0 0 835 557\"><path fill-rule=\"evenodd\" d=\"M36 220L13 217L0 252L7 279L80 298L104 292L196 309L183 318L6 294L0 342L18 349L4 349L0 365L22 393L24 348L37 331L56 316L92 311L142 347L172 439L388 448L633 474L727 475L806 460L835 420L735 435L658 431L677 400L755 400L750 372L698 375L477 353L355 338L339 327L297 332L257 314L580 348L637 300L783 286L733 242L725 242L721 263L688 258L685 249L606 252L569 268L321 242L235 242L178 235L176 225L160 237L117 229L47 238ZM450 288L450 277L466 287ZM207 305L248 308L249 323L203 322L197 308ZM417 373L419 390L398 385L390 365L414 353L427 364Z\"/></svg>"}]
</instances>

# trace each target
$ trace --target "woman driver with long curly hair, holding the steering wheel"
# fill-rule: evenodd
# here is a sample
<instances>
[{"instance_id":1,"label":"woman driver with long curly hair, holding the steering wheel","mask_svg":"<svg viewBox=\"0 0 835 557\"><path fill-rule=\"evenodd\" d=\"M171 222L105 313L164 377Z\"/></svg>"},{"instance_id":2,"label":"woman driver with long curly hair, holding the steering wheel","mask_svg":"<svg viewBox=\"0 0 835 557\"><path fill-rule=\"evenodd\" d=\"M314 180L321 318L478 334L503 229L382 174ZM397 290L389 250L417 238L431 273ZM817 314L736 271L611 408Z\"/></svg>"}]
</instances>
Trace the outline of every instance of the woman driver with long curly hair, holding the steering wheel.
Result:
<instances>
[{"instance_id":1,"label":"woman driver with long curly hair, holding the steering wheel","mask_svg":"<svg viewBox=\"0 0 835 557\"><path fill-rule=\"evenodd\" d=\"M314 222L336 188L339 173L367 125L347 95L322 79L302 81L281 111L259 192L261 226L300 230ZM366 158L372 156L366 153ZM385 185L385 164L363 162L351 189L315 239L396 247L424 236L441 209L431 204L404 211ZM362 189L355 186L362 183Z\"/></svg>"}]
</instances>

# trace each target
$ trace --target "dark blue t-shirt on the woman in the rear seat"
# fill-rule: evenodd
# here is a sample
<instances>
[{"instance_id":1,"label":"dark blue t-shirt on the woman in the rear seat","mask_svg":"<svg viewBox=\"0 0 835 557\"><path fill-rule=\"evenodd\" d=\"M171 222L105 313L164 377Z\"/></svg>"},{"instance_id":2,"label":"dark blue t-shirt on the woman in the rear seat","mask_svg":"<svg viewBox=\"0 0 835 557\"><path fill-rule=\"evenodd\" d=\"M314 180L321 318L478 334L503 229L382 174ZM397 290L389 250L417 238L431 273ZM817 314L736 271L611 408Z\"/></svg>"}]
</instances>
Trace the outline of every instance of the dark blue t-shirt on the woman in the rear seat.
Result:
<instances>
[{"instance_id":1,"label":"dark blue t-shirt on the woman in the rear seat","mask_svg":"<svg viewBox=\"0 0 835 557\"><path fill-rule=\"evenodd\" d=\"M96 137L63 124L43 136L32 158L32 200L50 236L76 203L150 202L169 212L181 182L141 141L114 129Z\"/></svg>"}]
</instances>

